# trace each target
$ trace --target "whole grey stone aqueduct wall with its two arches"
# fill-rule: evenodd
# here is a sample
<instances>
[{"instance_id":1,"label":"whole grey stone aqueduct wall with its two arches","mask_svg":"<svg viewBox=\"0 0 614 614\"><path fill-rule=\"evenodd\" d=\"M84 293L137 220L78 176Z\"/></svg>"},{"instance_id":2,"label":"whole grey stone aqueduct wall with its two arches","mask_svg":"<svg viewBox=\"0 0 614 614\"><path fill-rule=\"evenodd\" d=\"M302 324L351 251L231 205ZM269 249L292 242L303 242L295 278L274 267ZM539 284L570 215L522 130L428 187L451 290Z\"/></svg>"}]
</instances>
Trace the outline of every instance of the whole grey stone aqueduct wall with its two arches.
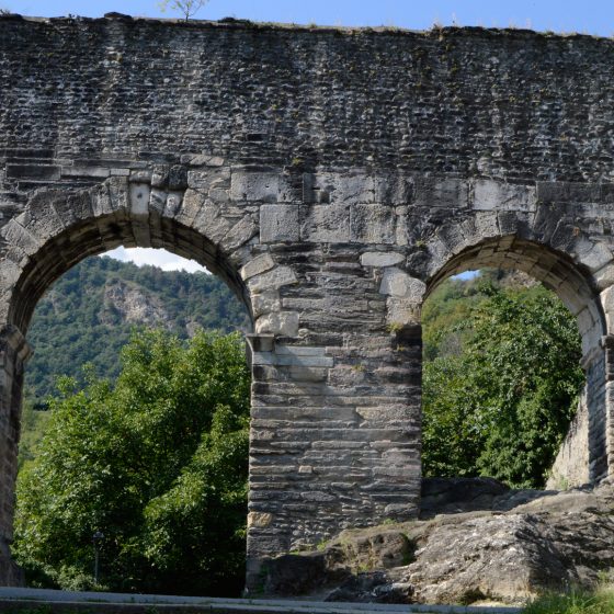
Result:
<instances>
[{"instance_id":1,"label":"whole grey stone aqueduct wall with its two arches","mask_svg":"<svg viewBox=\"0 0 614 614\"><path fill-rule=\"evenodd\" d=\"M251 312L248 583L417 512L420 308L452 273L520 269L577 315L568 452L614 473L613 69L612 41L527 31L1 18L0 580L32 311L120 245Z\"/></svg>"}]
</instances>

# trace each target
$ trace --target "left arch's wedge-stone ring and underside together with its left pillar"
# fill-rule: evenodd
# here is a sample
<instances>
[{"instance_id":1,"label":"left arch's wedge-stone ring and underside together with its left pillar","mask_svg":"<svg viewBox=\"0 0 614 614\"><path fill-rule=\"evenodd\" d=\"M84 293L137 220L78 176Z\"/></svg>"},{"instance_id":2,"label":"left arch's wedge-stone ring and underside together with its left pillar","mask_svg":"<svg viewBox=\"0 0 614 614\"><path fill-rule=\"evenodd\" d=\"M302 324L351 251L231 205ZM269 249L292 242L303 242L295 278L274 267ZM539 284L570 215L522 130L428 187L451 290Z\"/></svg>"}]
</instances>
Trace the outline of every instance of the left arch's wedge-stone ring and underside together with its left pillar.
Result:
<instances>
[{"instance_id":1,"label":"left arch's wedge-stone ring and underside together with its left pillar","mask_svg":"<svg viewBox=\"0 0 614 614\"><path fill-rule=\"evenodd\" d=\"M0 240L7 246L0 251L0 578L4 584L22 583L9 545L24 365L31 354L26 334L45 291L89 255L118 246L163 248L220 276L246 305L253 323L252 296L258 299L262 288L274 294L276 287L259 275L281 269L289 276L287 268L276 269L273 257L259 252L253 212L229 218L203 191L155 189L147 179L114 178L81 190L39 189L1 229ZM266 322L274 320L268 306L258 311L266 318L264 325L260 322L265 331ZM259 346L257 336L248 336L248 341Z\"/></svg>"}]
</instances>

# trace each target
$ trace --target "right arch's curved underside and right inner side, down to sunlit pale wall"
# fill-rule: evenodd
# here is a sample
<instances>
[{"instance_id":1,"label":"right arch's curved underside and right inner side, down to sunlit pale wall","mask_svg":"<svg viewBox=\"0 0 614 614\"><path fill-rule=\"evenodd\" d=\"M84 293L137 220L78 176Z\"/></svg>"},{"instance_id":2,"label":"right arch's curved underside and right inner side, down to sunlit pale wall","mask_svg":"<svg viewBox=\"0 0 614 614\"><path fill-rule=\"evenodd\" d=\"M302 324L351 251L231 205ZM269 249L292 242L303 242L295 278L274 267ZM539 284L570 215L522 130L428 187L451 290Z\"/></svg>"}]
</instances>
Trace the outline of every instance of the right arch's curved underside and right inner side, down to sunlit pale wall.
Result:
<instances>
[{"instance_id":1,"label":"right arch's curved underside and right inner side, down to sunlit pale wall","mask_svg":"<svg viewBox=\"0 0 614 614\"><path fill-rule=\"evenodd\" d=\"M518 235L491 237L451 253L428 280L423 299L450 276L485 266L530 274L554 291L576 317L587 383L577 416L553 467L549 485L580 486L599 481L609 471L607 321L589 266L578 263L566 252Z\"/></svg>"}]
</instances>

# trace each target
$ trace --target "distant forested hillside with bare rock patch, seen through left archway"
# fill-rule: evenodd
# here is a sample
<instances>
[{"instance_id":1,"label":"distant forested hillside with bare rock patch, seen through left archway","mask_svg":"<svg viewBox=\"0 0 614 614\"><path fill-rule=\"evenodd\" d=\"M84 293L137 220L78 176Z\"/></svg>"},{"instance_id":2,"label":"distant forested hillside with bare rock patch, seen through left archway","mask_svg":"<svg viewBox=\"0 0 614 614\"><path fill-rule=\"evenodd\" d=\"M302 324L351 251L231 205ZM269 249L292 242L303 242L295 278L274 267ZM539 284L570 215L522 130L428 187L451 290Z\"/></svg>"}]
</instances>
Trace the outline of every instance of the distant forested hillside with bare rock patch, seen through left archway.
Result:
<instances>
[{"instance_id":1,"label":"distant forested hillside with bare rock patch, seen through left archway","mask_svg":"<svg viewBox=\"0 0 614 614\"><path fill-rule=\"evenodd\" d=\"M88 258L38 303L29 331L34 355L26 389L36 405L54 393L58 375L81 377L91 363L114 379L120 350L135 327L162 327L180 338L198 328L248 330L243 305L215 275L162 271L111 258Z\"/></svg>"}]
</instances>

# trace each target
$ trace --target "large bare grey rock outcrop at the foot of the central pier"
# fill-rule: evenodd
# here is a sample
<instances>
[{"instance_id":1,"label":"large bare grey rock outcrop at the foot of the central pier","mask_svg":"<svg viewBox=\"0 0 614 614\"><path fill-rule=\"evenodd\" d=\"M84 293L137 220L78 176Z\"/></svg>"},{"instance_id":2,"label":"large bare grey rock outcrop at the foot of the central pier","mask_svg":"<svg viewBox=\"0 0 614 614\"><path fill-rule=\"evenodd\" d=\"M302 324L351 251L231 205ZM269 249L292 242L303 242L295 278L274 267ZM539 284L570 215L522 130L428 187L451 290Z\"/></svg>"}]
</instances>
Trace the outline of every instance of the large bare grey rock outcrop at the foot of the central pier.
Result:
<instances>
[{"instance_id":1,"label":"large bare grey rock outcrop at the foot of the central pier","mask_svg":"<svg viewBox=\"0 0 614 614\"><path fill-rule=\"evenodd\" d=\"M428 520L345 531L321 552L270 561L265 590L323 591L330 601L521 604L547 590L592 588L614 569L614 484L556 492L481 478L425 480L423 492Z\"/></svg>"}]
</instances>

